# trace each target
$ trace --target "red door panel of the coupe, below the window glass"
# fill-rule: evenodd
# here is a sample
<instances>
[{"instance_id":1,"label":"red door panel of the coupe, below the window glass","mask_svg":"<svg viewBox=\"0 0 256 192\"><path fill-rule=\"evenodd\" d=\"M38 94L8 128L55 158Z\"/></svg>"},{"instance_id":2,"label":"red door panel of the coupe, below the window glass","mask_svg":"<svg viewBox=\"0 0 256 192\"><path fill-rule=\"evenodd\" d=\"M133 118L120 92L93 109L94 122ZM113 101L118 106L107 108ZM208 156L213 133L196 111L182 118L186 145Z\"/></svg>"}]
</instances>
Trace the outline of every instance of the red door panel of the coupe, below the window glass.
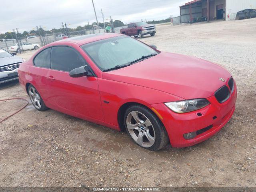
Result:
<instances>
[{"instance_id":1,"label":"red door panel of the coupe, below the window glass","mask_svg":"<svg viewBox=\"0 0 256 192\"><path fill-rule=\"evenodd\" d=\"M50 108L85 119L104 119L96 77L72 78L68 72L49 70L47 81Z\"/></svg>"}]
</instances>

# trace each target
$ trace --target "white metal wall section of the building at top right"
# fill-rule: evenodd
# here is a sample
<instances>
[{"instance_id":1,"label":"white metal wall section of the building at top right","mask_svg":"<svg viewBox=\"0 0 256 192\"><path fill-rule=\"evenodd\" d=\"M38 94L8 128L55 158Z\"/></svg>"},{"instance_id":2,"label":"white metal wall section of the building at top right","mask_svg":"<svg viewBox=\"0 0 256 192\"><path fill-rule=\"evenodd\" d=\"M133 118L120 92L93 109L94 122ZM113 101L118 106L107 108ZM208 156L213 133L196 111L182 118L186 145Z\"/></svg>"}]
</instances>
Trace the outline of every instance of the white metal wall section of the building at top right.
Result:
<instances>
[{"instance_id":1,"label":"white metal wall section of the building at top right","mask_svg":"<svg viewBox=\"0 0 256 192\"><path fill-rule=\"evenodd\" d=\"M244 9L256 9L256 0L226 0L226 21L234 20L236 13Z\"/></svg>"}]
</instances>

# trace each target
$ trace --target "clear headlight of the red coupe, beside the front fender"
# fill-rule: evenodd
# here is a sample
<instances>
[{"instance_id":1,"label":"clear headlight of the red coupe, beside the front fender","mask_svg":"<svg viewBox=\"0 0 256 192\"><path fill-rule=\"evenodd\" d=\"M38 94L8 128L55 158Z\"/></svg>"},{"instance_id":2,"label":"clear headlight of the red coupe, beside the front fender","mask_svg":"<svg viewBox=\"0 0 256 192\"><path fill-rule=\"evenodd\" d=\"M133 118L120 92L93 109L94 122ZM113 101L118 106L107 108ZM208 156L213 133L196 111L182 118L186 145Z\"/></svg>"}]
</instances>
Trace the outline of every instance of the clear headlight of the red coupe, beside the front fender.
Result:
<instances>
[{"instance_id":1,"label":"clear headlight of the red coupe, beside the front fender","mask_svg":"<svg viewBox=\"0 0 256 192\"><path fill-rule=\"evenodd\" d=\"M170 110L176 112L176 113L186 113L194 110L201 109L210 102L206 99L192 99L192 100L184 100L184 101L175 101L175 102L169 102L164 103Z\"/></svg>"}]
</instances>

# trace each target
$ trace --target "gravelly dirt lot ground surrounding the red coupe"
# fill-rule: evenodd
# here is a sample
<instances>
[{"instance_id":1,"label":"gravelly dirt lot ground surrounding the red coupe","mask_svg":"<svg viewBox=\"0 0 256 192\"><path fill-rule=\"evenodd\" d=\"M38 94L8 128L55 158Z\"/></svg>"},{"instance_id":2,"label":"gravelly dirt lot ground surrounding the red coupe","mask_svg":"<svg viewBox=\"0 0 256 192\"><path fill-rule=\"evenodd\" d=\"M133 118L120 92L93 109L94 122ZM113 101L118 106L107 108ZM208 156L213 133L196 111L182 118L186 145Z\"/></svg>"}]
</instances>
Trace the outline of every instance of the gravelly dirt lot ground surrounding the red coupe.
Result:
<instances>
[{"instance_id":1,"label":"gravelly dirt lot ground surrounding the red coupe","mask_svg":"<svg viewBox=\"0 0 256 192\"><path fill-rule=\"evenodd\" d=\"M256 18L158 25L142 41L227 68L238 88L228 124L196 146L151 152L126 133L30 103L0 124L0 186L256 186ZM18 82L1 84L0 99L13 97L28 98ZM0 102L0 118L22 104Z\"/></svg>"}]
</instances>

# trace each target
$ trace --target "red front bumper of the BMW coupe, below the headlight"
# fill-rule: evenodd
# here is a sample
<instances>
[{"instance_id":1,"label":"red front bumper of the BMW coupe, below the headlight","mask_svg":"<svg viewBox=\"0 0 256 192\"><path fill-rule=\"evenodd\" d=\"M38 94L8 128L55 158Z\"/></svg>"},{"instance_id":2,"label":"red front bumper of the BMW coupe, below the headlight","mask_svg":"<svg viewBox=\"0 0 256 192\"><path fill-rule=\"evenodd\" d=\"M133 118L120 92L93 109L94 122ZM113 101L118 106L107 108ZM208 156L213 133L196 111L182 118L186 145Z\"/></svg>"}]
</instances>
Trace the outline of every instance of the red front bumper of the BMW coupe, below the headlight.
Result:
<instances>
[{"instance_id":1,"label":"red front bumper of the BMW coupe, below the headlight","mask_svg":"<svg viewBox=\"0 0 256 192\"><path fill-rule=\"evenodd\" d=\"M215 96L207 98L210 105L193 112L178 114L170 110L164 104L153 104L152 107L159 113L168 133L172 147L188 147L216 134L230 120L235 110L237 91L236 86L230 98L220 104ZM201 116L198 116L200 113ZM207 130L207 128L210 129ZM205 132L198 134L195 138L186 140L184 134L199 131L206 128Z\"/></svg>"}]
</instances>

